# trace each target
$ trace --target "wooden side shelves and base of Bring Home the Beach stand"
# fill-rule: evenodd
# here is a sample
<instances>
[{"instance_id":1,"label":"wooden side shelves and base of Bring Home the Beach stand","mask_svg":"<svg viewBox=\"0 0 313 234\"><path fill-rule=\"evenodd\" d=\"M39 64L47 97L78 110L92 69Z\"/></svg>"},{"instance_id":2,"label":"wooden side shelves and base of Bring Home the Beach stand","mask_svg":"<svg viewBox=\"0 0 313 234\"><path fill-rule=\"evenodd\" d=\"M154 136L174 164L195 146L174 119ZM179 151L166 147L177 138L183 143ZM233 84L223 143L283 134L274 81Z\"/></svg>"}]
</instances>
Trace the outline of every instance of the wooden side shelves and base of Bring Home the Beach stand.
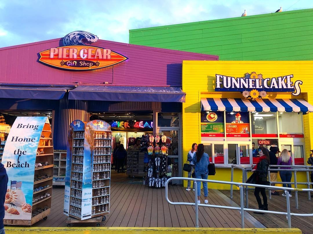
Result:
<instances>
[{"instance_id":1,"label":"wooden side shelves and base of Bring Home the Beach stand","mask_svg":"<svg viewBox=\"0 0 313 234\"><path fill-rule=\"evenodd\" d=\"M47 118L41 132L33 182L33 203L31 209L31 220L3 219L6 225L31 226L41 219L46 220L51 211L53 179L53 141L49 120ZM23 207L22 207L23 208Z\"/></svg>"}]
</instances>

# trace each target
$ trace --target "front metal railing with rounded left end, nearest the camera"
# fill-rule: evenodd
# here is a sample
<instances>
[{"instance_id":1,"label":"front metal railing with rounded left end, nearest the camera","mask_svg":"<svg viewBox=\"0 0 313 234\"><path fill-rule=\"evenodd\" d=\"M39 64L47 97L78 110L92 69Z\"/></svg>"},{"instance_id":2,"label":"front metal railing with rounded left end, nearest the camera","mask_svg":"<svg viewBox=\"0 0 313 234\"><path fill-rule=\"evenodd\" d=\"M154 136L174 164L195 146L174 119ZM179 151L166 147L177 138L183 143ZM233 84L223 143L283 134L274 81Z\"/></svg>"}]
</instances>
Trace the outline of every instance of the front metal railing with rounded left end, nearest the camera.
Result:
<instances>
[{"instance_id":1,"label":"front metal railing with rounded left end, nearest the camera","mask_svg":"<svg viewBox=\"0 0 313 234\"><path fill-rule=\"evenodd\" d=\"M172 180L190 180L195 183L195 202L172 202L168 198L168 184ZM232 207L232 206L218 206L218 205L211 205L211 204L198 204L198 182L208 182L208 183L218 183L218 184L229 184L235 185L239 187L240 190L240 207ZM167 180L165 184L165 199L171 205L183 205L183 206L194 206L195 207L195 227L199 227L199 210L198 207L210 207L210 208L218 208L218 209L229 209L229 210L238 210L241 215L241 228L244 228L244 212L245 211L253 211L253 212L260 212L265 214L278 214L278 215L286 215L288 220L288 227L291 228L291 216L300 216L300 217L310 217L313 216L312 214L299 214L299 213L291 213L290 212L290 198L289 198L289 191L295 191L294 188L285 188L286 191L286 205L287 205L287 212L279 212L279 211L265 211L265 210L257 210L257 209L250 209L244 207L244 186L248 187L262 187L262 188L269 188L272 190L278 190L281 187L277 186L269 186L269 185L256 185L256 184L247 184L247 183L238 183L238 182L228 182L228 181L218 181L218 180L205 180L205 179L195 179L195 178L187 178L187 177L171 177ZM297 189L305 192L313 192L313 189Z\"/></svg>"}]
</instances>

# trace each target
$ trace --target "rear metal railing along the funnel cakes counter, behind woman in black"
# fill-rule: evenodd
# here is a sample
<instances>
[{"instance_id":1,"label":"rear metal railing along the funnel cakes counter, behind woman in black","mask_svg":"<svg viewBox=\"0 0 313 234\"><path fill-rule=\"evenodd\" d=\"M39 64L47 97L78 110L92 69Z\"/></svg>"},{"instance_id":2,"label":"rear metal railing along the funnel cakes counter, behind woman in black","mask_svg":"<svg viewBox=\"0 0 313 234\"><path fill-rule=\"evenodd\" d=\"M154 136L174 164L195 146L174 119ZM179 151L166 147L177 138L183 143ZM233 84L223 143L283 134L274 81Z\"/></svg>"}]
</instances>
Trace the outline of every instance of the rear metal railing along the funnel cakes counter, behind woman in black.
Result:
<instances>
[{"instance_id":1,"label":"rear metal railing along the funnel cakes counter, behind woman in black","mask_svg":"<svg viewBox=\"0 0 313 234\"><path fill-rule=\"evenodd\" d=\"M252 170L252 167L240 167L239 165L235 165L232 164L231 165L231 177L230 177L230 181L233 182L233 171L234 168L240 169L242 170L242 182L245 183L248 179L248 172L250 172ZM292 167L292 169L271 169L270 167ZM298 169L299 168L299 169ZM305 169L303 169L305 168ZM310 169L311 168L311 169ZM294 182L277 182L277 181L270 181L270 172L271 171L292 171L294 172ZM297 182L297 172L306 172L306 182ZM305 165L295 165L295 166L288 166L288 165L269 165L269 169L268 169L268 173L269 173L269 183L270 184L293 184L295 189L297 189L297 185L307 185L307 188L310 189L310 185L312 185L313 183L310 182L310 176L309 176L309 172L313 172L313 166L305 166ZM244 187L245 190L245 207L249 207L248 204L248 199L249 199L249 194L248 191L249 190L254 190L254 188L249 188L248 186ZM271 196L271 190L269 190L269 199L272 199ZM276 190L285 190L285 187L279 187L279 189ZM230 198L233 199L233 186L230 186ZM308 200L311 200L310 197L310 192L308 191ZM298 205L298 190L295 190L295 207L298 209L299 205Z\"/></svg>"}]
</instances>

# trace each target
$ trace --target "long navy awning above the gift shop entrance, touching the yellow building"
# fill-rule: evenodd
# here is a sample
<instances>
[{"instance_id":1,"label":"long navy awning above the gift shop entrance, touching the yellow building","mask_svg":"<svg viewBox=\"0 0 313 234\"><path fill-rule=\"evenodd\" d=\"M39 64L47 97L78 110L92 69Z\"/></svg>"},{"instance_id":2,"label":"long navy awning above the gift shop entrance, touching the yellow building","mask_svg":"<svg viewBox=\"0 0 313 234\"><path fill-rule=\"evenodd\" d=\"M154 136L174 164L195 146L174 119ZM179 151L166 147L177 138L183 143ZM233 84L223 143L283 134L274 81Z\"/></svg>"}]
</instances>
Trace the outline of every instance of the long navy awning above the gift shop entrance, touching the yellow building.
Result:
<instances>
[{"instance_id":1,"label":"long navy awning above the gift shop entrance, touching the yellow building","mask_svg":"<svg viewBox=\"0 0 313 234\"><path fill-rule=\"evenodd\" d=\"M180 87L80 85L69 90L69 99L129 102L185 102Z\"/></svg>"}]
</instances>

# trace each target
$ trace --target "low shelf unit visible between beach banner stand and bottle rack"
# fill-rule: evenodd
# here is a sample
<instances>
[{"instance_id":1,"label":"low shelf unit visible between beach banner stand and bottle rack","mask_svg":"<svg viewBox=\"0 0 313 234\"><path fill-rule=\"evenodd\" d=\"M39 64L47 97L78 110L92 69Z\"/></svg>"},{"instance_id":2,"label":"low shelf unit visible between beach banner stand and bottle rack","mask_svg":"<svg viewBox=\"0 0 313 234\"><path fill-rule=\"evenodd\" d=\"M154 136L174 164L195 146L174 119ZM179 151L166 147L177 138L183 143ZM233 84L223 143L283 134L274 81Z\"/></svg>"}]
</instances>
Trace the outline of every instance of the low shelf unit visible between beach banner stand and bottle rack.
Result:
<instances>
[{"instance_id":1,"label":"low shelf unit visible between beach banner stand and bottle rack","mask_svg":"<svg viewBox=\"0 0 313 234\"><path fill-rule=\"evenodd\" d=\"M54 151L53 185L65 185L66 151Z\"/></svg>"}]
</instances>

